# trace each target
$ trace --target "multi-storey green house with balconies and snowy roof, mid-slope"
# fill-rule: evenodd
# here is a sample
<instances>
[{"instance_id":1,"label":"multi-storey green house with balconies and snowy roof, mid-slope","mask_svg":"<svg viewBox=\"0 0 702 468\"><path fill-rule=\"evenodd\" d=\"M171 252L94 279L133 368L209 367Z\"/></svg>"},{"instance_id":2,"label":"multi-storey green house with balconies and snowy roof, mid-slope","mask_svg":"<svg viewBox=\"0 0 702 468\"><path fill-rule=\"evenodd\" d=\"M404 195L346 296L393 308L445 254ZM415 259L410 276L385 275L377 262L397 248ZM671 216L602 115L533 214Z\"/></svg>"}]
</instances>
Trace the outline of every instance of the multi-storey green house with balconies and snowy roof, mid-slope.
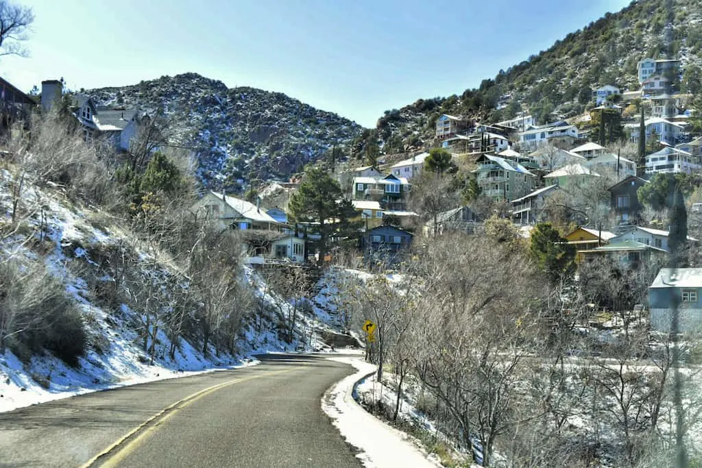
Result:
<instances>
[{"instance_id":1,"label":"multi-storey green house with balconies and snowy roof, mid-slope","mask_svg":"<svg viewBox=\"0 0 702 468\"><path fill-rule=\"evenodd\" d=\"M477 184L482 194L496 200L510 201L534 191L536 176L521 164L494 156L482 154L475 161Z\"/></svg>"}]
</instances>

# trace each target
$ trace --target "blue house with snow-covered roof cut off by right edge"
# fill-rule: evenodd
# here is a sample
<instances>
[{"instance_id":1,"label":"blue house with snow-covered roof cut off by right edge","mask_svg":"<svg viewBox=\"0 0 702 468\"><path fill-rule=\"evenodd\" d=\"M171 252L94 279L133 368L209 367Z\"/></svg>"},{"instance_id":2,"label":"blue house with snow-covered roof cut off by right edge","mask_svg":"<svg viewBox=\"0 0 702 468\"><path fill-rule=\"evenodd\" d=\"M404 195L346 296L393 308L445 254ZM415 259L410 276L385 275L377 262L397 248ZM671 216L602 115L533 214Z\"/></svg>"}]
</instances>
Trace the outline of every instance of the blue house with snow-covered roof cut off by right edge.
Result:
<instances>
[{"instance_id":1,"label":"blue house with snow-covered roof cut off by right edge","mask_svg":"<svg viewBox=\"0 0 702 468\"><path fill-rule=\"evenodd\" d=\"M681 332L702 329L702 268L661 268L649 286L652 330L670 331L673 306Z\"/></svg>"}]
</instances>

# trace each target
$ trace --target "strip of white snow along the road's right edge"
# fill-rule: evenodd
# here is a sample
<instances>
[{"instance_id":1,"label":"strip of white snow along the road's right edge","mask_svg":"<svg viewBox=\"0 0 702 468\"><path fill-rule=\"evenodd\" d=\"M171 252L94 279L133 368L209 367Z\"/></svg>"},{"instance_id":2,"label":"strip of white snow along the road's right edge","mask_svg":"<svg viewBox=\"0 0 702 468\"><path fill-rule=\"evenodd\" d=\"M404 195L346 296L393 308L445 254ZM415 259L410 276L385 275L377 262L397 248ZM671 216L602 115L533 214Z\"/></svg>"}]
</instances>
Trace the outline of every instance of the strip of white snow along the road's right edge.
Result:
<instances>
[{"instance_id":1,"label":"strip of white snow along the road's right edge","mask_svg":"<svg viewBox=\"0 0 702 468\"><path fill-rule=\"evenodd\" d=\"M345 377L326 391L322 410L348 443L360 450L357 455L367 468L441 467L435 457L415 446L404 432L390 427L366 412L354 399L355 383L373 373L376 366L359 358L331 357L354 366L358 372Z\"/></svg>"}]
</instances>

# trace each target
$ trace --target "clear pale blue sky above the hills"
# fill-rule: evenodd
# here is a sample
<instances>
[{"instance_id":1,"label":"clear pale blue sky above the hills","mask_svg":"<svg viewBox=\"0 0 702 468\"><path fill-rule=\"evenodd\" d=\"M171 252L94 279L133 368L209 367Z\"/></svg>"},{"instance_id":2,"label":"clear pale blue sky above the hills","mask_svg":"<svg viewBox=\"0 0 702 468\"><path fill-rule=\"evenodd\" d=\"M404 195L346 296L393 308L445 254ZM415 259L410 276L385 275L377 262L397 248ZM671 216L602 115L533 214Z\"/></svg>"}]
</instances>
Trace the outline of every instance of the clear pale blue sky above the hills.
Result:
<instances>
[{"instance_id":1,"label":"clear pale blue sky above the hills","mask_svg":"<svg viewBox=\"0 0 702 468\"><path fill-rule=\"evenodd\" d=\"M463 93L630 0L12 0L37 19L30 58L0 58L29 91L197 72L281 91L363 126Z\"/></svg>"}]
</instances>

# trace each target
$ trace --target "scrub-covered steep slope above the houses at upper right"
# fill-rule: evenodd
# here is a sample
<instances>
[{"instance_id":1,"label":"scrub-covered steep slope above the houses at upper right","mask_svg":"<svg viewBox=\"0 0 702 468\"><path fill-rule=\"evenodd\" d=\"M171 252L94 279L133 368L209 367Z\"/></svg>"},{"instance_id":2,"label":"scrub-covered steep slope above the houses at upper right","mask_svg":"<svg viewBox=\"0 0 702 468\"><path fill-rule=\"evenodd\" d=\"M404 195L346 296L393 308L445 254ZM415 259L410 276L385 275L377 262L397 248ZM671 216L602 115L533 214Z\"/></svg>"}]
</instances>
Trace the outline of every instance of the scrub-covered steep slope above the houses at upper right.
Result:
<instances>
[{"instance_id":1,"label":"scrub-covered steep slope above the houses at upper right","mask_svg":"<svg viewBox=\"0 0 702 468\"><path fill-rule=\"evenodd\" d=\"M669 6L667 4L670 4ZM477 89L446 98L420 99L378 119L378 138L391 147L402 140L418 147L430 142L439 114L510 119L528 110L539 123L579 114L598 86L636 90L642 58L680 58L680 91L702 91L702 2L640 0L556 41ZM496 110L500 107L500 110Z\"/></svg>"}]
</instances>

